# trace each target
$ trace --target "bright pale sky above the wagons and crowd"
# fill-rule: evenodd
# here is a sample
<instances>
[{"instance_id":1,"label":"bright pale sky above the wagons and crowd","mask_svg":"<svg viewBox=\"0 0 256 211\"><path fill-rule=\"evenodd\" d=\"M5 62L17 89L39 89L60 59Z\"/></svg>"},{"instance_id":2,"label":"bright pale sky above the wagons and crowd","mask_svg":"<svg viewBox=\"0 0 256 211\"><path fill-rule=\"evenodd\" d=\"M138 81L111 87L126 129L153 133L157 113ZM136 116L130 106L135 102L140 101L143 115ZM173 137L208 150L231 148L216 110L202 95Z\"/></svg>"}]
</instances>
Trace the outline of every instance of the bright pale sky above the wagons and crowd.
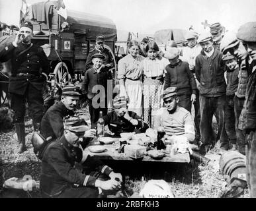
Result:
<instances>
[{"instance_id":1,"label":"bright pale sky above the wagons and crowd","mask_svg":"<svg viewBox=\"0 0 256 211\"><path fill-rule=\"evenodd\" d=\"M44 0L26 0L36 3ZM14 8L21 0L0 0L0 21L17 22ZM165 28L204 30L201 22L220 22L237 31L241 24L256 21L255 0L64 0L67 9L103 15L118 30L153 34Z\"/></svg>"}]
</instances>

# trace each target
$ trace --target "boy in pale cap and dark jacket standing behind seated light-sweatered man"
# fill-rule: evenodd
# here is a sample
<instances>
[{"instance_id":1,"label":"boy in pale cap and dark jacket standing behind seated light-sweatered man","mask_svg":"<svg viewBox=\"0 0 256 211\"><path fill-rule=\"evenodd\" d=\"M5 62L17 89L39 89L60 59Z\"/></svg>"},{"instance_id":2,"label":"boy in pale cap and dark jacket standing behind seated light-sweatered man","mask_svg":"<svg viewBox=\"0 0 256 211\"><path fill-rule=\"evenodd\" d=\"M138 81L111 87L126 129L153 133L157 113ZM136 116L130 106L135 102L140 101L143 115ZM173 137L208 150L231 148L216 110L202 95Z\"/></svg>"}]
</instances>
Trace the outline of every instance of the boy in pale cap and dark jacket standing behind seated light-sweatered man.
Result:
<instances>
[{"instance_id":1,"label":"boy in pale cap and dark jacket standing behind seated light-sweatered man","mask_svg":"<svg viewBox=\"0 0 256 211\"><path fill-rule=\"evenodd\" d=\"M179 59L179 49L170 47L164 57L170 64L165 67L165 84L163 90L170 86L177 87L179 106L191 112L191 102L196 100L196 82L189 69L189 63Z\"/></svg>"}]
</instances>

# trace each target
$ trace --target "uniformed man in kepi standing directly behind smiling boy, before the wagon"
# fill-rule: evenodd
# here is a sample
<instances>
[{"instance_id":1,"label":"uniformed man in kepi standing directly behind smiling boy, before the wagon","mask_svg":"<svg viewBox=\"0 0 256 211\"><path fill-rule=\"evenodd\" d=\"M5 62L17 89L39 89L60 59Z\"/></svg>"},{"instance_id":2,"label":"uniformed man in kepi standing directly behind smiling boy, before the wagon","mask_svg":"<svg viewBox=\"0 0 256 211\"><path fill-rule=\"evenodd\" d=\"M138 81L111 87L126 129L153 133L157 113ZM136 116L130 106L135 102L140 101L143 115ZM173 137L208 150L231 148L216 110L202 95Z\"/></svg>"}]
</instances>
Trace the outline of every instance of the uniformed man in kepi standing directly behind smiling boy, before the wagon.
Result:
<instances>
[{"instance_id":1,"label":"uniformed man in kepi standing directly behind smiling boy, before the wagon","mask_svg":"<svg viewBox=\"0 0 256 211\"><path fill-rule=\"evenodd\" d=\"M93 55L95 53L101 53L105 56L105 59L103 60L103 67L107 67L107 69L111 69L112 67L114 67L112 55L111 55L110 51L104 47L104 44L105 44L105 36L98 35L96 37L95 48L88 53L88 57L87 57L87 60L85 63L86 70L93 67L92 60L93 60Z\"/></svg>"}]
</instances>

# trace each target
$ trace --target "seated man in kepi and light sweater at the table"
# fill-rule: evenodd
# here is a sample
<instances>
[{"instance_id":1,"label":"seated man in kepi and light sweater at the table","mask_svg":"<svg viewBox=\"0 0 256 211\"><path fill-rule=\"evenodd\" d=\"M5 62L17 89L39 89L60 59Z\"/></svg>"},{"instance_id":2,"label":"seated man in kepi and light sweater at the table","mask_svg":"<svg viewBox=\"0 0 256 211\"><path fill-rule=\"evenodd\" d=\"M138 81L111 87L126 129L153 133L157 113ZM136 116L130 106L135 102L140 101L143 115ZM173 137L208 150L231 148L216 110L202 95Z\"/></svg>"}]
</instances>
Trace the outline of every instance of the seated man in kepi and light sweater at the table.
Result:
<instances>
[{"instance_id":1,"label":"seated man in kepi and light sweater at the table","mask_svg":"<svg viewBox=\"0 0 256 211\"><path fill-rule=\"evenodd\" d=\"M163 102L165 107L158 110L154 128L163 127L167 140L171 143L175 142L175 139L187 139L192 143L194 141L194 123L191 113L178 106L179 97L177 97L176 87L168 87L163 91Z\"/></svg>"}]
</instances>

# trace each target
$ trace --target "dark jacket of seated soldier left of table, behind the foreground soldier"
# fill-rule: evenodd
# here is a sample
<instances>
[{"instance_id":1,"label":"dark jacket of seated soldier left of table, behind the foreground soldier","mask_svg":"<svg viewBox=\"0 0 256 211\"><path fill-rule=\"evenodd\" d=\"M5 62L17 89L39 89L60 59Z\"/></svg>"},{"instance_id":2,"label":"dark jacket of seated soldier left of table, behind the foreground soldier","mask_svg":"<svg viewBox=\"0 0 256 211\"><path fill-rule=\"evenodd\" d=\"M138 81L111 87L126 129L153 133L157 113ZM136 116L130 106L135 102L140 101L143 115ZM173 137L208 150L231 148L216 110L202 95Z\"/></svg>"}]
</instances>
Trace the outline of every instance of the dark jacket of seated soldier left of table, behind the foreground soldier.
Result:
<instances>
[{"instance_id":1,"label":"dark jacket of seated soldier left of table, behind the foreground soldier","mask_svg":"<svg viewBox=\"0 0 256 211\"><path fill-rule=\"evenodd\" d=\"M63 118L67 115L73 116L74 112L67 109L62 102L56 102L42 117L40 134L44 138L60 138L64 134Z\"/></svg>"}]
</instances>

